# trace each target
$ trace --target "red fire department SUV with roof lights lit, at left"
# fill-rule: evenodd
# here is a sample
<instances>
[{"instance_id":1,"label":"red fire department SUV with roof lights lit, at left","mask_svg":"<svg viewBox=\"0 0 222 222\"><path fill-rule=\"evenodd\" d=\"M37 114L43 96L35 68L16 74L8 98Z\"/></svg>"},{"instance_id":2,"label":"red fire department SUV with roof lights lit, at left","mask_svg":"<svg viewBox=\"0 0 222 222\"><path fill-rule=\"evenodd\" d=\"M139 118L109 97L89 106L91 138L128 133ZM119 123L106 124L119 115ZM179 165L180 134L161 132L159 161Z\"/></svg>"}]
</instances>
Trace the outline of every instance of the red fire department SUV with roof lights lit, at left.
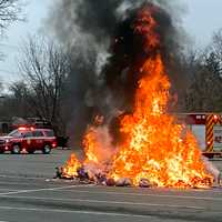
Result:
<instances>
[{"instance_id":1,"label":"red fire department SUV with roof lights lit, at left","mask_svg":"<svg viewBox=\"0 0 222 222\"><path fill-rule=\"evenodd\" d=\"M0 138L0 153L10 151L13 154L21 152L34 153L40 150L49 154L57 147L57 138L51 129L18 128L7 137Z\"/></svg>"}]
</instances>

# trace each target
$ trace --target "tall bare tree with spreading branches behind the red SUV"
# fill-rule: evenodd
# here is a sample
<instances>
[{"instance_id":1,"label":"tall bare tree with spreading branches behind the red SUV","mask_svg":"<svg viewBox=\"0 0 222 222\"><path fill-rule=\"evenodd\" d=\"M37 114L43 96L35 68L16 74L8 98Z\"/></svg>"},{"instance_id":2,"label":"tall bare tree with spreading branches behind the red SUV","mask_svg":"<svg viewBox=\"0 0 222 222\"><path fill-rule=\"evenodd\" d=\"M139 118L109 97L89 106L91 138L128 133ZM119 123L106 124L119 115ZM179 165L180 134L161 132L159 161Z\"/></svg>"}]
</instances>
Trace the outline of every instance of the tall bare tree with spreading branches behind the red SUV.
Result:
<instances>
[{"instance_id":1,"label":"tall bare tree with spreading branches behind the red SUV","mask_svg":"<svg viewBox=\"0 0 222 222\"><path fill-rule=\"evenodd\" d=\"M59 132L64 132L62 95L69 71L68 57L53 41L41 37L30 37L22 51L19 67L29 85L27 99L33 112L51 121Z\"/></svg>"}]
</instances>

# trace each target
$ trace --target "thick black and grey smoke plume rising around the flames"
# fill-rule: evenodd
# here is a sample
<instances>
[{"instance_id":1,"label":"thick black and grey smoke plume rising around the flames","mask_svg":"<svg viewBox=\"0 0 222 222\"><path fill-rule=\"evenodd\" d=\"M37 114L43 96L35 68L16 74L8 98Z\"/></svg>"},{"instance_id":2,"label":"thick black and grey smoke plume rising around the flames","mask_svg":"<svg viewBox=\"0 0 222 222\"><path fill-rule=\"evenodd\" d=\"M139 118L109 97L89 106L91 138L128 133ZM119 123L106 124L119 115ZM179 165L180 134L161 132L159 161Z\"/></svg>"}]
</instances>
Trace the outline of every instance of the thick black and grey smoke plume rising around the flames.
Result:
<instances>
[{"instance_id":1,"label":"thick black and grey smoke plume rising around the flames","mask_svg":"<svg viewBox=\"0 0 222 222\"><path fill-rule=\"evenodd\" d=\"M72 140L81 141L95 114L108 120L130 112L140 64L149 56L133 30L138 11L155 6L161 54L173 91L180 92L178 63L181 37L168 0L58 0L49 24L71 58L67 98L72 113ZM175 8L174 8L175 9ZM151 56L151 54L150 54ZM180 69L179 69L180 70ZM180 81L179 81L180 80Z\"/></svg>"}]
</instances>

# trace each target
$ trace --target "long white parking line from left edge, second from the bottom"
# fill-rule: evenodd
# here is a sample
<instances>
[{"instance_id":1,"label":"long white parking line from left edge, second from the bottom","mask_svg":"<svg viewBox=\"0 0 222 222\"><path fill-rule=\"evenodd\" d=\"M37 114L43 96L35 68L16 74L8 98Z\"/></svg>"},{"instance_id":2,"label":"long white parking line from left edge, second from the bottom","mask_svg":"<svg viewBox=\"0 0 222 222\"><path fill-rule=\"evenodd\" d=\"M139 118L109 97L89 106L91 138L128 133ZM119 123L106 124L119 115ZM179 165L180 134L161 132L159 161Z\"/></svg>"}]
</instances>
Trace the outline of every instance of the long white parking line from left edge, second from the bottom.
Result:
<instances>
[{"instance_id":1,"label":"long white parking line from left edge, second from the bottom","mask_svg":"<svg viewBox=\"0 0 222 222\"><path fill-rule=\"evenodd\" d=\"M173 209L192 209L192 210L204 210L202 206L194 205L174 205L174 204L161 204L161 203L145 203L145 202L128 202L128 201L103 201L103 200L88 200L88 199L58 199L58 198L39 198L39 196L26 196L26 195L2 195L8 199L27 199L27 200L48 200L48 201L59 201L59 202L85 202L85 203L108 203L108 204L119 204L119 205L140 205L140 206L161 206L161 208L173 208Z\"/></svg>"}]
</instances>

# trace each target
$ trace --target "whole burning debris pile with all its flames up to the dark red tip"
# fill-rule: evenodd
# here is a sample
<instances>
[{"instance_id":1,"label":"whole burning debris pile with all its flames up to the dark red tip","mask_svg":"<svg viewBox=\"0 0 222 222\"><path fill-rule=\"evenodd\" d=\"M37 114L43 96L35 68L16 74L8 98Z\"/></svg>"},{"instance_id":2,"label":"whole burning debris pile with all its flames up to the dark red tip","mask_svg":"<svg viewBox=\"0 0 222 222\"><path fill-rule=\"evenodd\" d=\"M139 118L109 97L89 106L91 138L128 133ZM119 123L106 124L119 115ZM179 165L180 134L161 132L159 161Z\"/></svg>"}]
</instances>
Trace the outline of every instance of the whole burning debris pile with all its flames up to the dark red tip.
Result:
<instances>
[{"instance_id":1,"label":"whole burning debris pile with all its flames up to the dark red tip","mask_svg":"<svg viewBox=\"0 0 222 222\"><path fill-rule=\"evenodd\" d=\"M121 140L113 143L103 121L89 127L85 160L74 154L59 169L60 178L107 185L208 188L206 172L195 138L168 113L171 83L164 63L158 6L145 4L132 22L142 48L132 112L121 114Z\"/></svg>"}]
</instances>

